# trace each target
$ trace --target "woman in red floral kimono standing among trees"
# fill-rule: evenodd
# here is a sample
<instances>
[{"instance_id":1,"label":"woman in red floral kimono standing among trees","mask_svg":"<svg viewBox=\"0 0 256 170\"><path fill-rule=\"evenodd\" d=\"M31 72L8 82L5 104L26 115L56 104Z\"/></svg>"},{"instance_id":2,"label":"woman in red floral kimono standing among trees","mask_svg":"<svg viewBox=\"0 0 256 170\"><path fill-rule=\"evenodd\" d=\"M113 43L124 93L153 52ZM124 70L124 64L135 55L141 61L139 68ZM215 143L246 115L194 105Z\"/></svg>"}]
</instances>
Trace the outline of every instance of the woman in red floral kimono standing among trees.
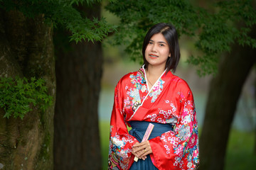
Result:
<instances>
[{"instance_id":1,"label":"woman in red floral kimono standing among trees","mask_svg":"<svg viewBox=\"0 0 256 170\"><path fill-rule=\"evenodd\" d=\"M171 73L180 58L174 26L153 26L144 38L142 54L142 68L122 77L114 90L109 169L197 169L193 94L186 81ZM154 129L142 142L149 123ZM127 125L132 127L129 132Z\"/></svg>"}]
</instances>

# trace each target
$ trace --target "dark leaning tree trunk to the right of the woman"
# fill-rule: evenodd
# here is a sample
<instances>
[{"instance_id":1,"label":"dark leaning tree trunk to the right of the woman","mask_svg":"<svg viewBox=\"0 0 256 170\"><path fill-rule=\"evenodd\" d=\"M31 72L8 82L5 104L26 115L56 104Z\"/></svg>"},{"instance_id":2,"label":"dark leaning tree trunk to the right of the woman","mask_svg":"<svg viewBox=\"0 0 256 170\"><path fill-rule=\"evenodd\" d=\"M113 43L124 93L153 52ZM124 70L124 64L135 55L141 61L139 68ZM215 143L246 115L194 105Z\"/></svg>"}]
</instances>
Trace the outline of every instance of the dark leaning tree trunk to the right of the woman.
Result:
<instances>
[{"instance_id":1,"label":"dark leaning tree trunk to the right of the woman","mask_svg":"<svg viewBox=\"0 0 256 170\"><path fill-rule=\"evenodd\" d=\"M256 50L251 47L235 45L220 62L218 74L211 81L200 137L203 170L224 168L230 126L242 86L256 62L255 54Z\"/></svg>"}]
</instances>

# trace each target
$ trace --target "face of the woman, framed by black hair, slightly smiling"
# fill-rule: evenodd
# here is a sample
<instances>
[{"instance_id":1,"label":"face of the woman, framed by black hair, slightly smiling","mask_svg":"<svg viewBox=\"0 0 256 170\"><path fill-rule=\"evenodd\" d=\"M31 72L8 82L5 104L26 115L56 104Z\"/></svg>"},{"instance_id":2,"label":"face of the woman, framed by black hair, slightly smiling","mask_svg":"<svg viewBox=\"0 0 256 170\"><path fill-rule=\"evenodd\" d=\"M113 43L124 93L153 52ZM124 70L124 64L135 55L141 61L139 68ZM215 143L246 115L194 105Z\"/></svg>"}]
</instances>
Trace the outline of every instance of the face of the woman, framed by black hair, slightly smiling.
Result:
<instances>
[{"instance_id":1,"label":"face of the woman, framed by black hair, slightly smiling","mask_svg":"<svg viewBox=\"0 0 256 170\"><path fill-rule=\"evenodd\" d=\"M149 44L146 46L145 50L145 58L146 61L149 62L149 67L157 66L164 69L168 57L171 57L171 53L164 35L161 33L154 34L150 38Z\"/></svg>"}]
</instances>

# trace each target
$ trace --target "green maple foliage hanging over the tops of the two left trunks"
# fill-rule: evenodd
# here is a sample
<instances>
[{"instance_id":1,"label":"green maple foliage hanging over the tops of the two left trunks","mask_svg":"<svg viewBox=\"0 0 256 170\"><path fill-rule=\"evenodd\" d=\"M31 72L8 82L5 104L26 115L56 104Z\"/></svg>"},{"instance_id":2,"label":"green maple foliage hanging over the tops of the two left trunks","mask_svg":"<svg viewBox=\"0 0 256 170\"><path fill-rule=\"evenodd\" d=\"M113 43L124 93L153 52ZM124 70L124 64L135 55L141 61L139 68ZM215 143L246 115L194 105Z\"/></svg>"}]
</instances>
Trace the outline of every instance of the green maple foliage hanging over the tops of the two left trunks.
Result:
<instances>
[{"instance_id":1,"label":"green maple foliage hanging over the tops of the two left trunks","mask_svg":"<svg viewBox=\"0 0 256 170\"><path fill-rule=\"evenodd\" d=\"M115 27L107 23L105 18L83 18L75 5L92 6L100 0L0 0L0 8L6 11L18 10L25 16L33 18L43 14L46 22L54 27L63 26L72 34L70 40L100 41Z\"/></svg>"}]
</instances>

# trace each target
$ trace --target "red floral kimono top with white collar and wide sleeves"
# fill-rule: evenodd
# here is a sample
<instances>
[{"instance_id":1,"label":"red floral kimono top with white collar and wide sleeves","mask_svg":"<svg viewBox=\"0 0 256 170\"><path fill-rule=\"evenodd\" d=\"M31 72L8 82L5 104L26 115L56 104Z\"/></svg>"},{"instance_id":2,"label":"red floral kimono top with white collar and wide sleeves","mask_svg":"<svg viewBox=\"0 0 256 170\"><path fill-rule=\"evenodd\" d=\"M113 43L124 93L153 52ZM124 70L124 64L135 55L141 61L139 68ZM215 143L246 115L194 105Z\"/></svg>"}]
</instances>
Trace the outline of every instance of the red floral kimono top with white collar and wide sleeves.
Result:
<instances>
[{"instance_id":1,"label":"red floral kimono top with white collar and wide sleeves","mask_svg":"<svg viewBox=\"0 0 256 170\"><path fill-rule=\"evenodd\" d=\"M129 169L134 162L132 146L138 141L127 130L131 120L174 125L174 130L149 140L157 169L197 169L198 126L186 81L164 72L149 90L144 67L119 80L110 121L109 169Z\"/></svg>"}]
</instances>

